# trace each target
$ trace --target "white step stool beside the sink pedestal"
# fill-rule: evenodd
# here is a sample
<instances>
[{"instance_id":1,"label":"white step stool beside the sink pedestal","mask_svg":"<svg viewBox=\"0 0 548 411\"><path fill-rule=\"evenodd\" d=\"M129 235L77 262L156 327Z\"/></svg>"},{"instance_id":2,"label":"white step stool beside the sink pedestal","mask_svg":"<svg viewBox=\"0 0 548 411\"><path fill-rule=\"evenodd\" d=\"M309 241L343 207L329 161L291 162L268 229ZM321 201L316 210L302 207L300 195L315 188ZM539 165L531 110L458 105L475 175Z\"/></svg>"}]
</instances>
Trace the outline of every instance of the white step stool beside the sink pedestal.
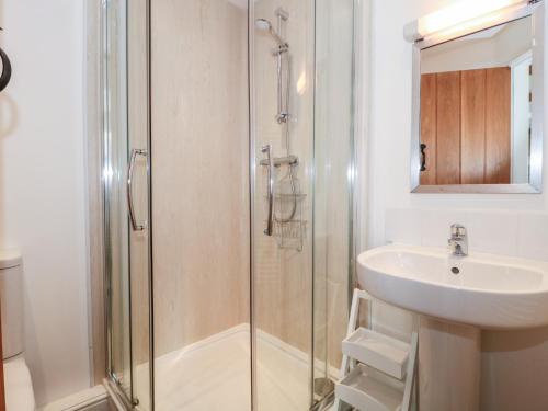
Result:
<instances>
[{"instance_id":1,"label":"white step stool beside the sink pedestal","mask_svg":"<svg viewBox=\"0 0 548 411\"><path fill-rule=\"evenodd\" d=\"M416 388L415 364L419 336L411 344L357 328L359 301L370 301L367 293L354 290L346 339L342 342L341 379L335 386L335 404L341 401L359 411L410 411Z\"/></svg>"}]
</instances>

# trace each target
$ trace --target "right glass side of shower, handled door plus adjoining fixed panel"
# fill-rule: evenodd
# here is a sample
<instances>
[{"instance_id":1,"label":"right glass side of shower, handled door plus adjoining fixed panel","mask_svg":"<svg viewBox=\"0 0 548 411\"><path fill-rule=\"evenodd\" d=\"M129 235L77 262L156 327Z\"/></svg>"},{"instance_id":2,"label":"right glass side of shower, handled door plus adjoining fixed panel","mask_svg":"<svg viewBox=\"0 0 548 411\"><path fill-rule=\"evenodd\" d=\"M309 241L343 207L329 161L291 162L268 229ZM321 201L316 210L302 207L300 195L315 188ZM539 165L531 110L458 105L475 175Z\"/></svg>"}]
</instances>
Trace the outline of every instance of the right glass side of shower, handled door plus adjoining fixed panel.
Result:
<instances>
[{"instance_id":1,"label":"right glass side of shower, handled door plus adjoining fixed panel","mask_svg":"<svg viewBox=\"0 0 548 411\"><path fill-rule=\"evenodd\" d=\"M253 3L254 404L302 411L338 378L352 287L353 0Z\"/></svg>"}]
</instances>

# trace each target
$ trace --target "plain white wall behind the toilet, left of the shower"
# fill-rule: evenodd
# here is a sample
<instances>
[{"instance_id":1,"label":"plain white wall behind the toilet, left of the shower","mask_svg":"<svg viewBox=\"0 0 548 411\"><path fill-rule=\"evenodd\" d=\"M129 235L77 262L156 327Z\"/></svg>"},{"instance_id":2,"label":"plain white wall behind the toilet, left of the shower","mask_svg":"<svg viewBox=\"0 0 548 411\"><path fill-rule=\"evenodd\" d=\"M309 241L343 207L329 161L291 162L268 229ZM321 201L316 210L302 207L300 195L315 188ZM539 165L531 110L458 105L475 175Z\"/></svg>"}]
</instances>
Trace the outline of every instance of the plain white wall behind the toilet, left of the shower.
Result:
<instances>
[{"instance_id":1,"label":"plain white wall behind the toilet, left of the shower","mask_svg":"<svg viewBox=\"0 0 548 411\"><path fill-rule=\"evenodd\" d=\"M0 94L0 247L21 247L37 402L90 385L83 1L0 0L13 79Z\"/></svg>"}]
</instances>

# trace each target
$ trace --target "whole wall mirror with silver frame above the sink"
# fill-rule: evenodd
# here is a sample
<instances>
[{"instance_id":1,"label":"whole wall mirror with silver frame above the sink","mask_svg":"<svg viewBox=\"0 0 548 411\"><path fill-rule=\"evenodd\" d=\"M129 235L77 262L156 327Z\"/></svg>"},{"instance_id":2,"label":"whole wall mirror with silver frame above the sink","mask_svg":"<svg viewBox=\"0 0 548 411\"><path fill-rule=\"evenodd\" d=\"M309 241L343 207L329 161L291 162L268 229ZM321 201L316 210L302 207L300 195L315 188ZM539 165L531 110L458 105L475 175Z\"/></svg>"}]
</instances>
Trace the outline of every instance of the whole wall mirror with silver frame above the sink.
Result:
<instances>
[{"instance_id":1,"label":"whole wall mirror with silver frame above the sink","mask_svg":"<svg viewBox=\"0 0 548 411\"><path fill-rule=\"evenodd\" d=\"M415 42L412 192L540 193L543 9Z\"/></svg>"}]
</instances>

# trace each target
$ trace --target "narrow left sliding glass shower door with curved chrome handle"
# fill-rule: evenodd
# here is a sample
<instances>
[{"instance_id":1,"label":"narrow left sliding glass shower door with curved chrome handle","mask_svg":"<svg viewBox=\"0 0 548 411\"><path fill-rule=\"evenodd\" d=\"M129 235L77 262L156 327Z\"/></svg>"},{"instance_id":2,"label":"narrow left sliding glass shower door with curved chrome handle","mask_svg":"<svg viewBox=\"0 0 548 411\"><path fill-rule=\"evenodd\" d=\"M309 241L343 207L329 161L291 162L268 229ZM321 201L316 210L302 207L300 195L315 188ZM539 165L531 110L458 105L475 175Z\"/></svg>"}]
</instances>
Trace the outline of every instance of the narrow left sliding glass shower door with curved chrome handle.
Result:
<instances>
[{"instance_id":1,"label":"narrow left sliding glass shower door with curved chrome handle","mask_svg":"<svg viewBox=\"0 0 548 411\"><path fill-rule=\"evenodd\" d=\"M127 15L127 133L133 163L129 235L132 297L133 400L140 411L151 410L150 264L149 247L149 123L148 123L148 0L126 0ZM130 216L132 218L132 216ZM134 224L137 226L134 227ZM140 226L140 227L139 227Z\"/></svg>"}]
</instances>

